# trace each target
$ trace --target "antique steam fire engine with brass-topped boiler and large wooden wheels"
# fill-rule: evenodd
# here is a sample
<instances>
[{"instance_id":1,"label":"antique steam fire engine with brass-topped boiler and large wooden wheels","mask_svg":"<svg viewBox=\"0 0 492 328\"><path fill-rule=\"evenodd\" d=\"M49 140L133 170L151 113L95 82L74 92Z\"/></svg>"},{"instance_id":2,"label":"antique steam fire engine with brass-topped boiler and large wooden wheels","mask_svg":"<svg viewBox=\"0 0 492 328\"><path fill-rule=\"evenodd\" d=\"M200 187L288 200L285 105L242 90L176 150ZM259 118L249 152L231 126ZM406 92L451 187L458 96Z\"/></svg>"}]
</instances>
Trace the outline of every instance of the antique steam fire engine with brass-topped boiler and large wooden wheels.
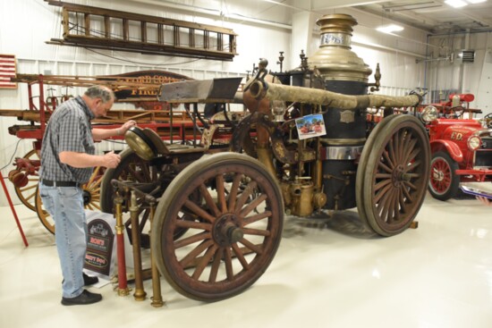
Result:
<instances>
[{"instance_id":1,"label":"antique steam fire engine with brass-topped boiler and large wooden wheels","mask_svg":"<svg viewBox=\"0 0 492 328\"><path fill-rule=\"evenodd\" d=\"M412 115L389 115L368 136L368 107L412 107L406 97L367 95L369 67L351 50L352 16L318 21L321 46L293 71L268 73L259 64L242 93L241 79L183 81L161 87L160 100L246 105L240 121L224 111L205 122L198 145L165 144L155 132L132 128L130 148L118 168L107 170L101 208L138 189L140 227L153 217L150 248L159 272L192 299L226 299L259 279L275 257L285 212L357 207L361 221L382 236L406 230L426 194L429 146ZM217 121L233 125L228 147L216 147ZM311 135L312 128L312 135ZM319 132L326 131L326 134ZM312 137L312 138L311 138ZM152 213L152 214L148 214Z\"/></svg>"}]
</instances>

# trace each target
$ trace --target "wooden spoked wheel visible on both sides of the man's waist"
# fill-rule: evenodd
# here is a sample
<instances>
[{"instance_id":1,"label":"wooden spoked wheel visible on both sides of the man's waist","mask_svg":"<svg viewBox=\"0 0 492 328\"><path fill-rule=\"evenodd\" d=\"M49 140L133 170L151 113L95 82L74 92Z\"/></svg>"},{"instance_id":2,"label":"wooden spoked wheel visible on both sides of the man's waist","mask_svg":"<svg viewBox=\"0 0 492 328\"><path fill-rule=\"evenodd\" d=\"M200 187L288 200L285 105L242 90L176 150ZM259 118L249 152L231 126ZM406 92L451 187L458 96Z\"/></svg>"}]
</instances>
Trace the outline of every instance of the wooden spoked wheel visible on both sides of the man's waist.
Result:
<instances>
[{"instance_id":1,"label":"wooden spoked wheel visible on both sides of the man's waist","mask_svg":"<svg viewBox=\"0 0 492 328\"><path fill-rule=\"evenodd\" d=\"M82 186L84 207L86 209L93 211L101 209L99 206L99 198L104 171L105 168L100 166L96 167L90 176L89 182ZM39 196L38 188L36 189L35 208L39 221L41 221L43 226L47 228L47 231L55 234L55 221L51 217L51 214L47 213L47 210L44 208L41 197Z\"/></svg>"}]
</instances>

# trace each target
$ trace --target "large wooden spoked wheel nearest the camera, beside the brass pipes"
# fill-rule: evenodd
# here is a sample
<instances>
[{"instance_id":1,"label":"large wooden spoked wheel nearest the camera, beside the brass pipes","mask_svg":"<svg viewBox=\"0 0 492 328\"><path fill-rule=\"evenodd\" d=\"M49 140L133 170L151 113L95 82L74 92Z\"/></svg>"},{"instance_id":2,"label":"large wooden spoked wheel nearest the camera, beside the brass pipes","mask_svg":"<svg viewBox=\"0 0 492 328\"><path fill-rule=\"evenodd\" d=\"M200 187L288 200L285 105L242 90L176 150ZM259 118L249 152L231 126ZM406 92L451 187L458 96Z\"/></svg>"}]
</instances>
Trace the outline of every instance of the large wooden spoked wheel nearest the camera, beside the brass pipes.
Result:
<instances>
[{"instance_id":1,"label":"large wooden spoked wheel nearest the camera, beside the brass pipes","mask_svg":"<svg viewBox=\"0 0 492 328\"><path fill-rule=\"evenodd\" d=\"M256 159L203 156L165 189L152 223L152 252L160 273L182 295L227 299L267 270L283 217L276 179Z\"/></svg>"}]
</instances>

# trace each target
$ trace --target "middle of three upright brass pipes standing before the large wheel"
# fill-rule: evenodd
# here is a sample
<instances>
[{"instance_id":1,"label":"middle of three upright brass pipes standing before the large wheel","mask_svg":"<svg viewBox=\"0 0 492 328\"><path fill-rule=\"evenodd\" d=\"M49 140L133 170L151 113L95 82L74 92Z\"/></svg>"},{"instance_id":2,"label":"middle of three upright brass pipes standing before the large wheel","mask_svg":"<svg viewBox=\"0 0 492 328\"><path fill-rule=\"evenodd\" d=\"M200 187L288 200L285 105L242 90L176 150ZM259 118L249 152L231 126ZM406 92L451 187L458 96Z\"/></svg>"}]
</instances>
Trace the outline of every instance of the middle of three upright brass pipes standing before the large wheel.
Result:
<instances>
[{"instance_id":1,"label":"middle of three upright brass pipes standing before the large wheel","mask_svg":"<svg viewBox=\"0 0 492 328\"><path fill-rule=\"evenodd\" d=\"M142 262L140 254L140 231L139 231L139 206L135 191L131 190L130 196L130 220L131 220L131 242L133 247L133 270L135 273L135 300L144 300L147 293L143 289Z\"/></svg>"}]
</instances>

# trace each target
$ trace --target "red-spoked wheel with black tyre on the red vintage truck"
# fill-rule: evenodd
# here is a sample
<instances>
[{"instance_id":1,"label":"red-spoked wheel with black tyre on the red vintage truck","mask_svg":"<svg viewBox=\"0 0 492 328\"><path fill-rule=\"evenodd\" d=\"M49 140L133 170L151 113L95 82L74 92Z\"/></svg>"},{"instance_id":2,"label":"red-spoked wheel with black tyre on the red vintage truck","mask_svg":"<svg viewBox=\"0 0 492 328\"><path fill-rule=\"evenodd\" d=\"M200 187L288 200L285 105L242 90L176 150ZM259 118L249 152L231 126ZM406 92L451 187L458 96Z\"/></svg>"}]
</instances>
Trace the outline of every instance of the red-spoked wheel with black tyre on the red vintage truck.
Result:
<instances>
[{"instance_id":1,"label":"red-spoked wheel with black tyre on the red vintage truck","mask_svg":"<svg viewBox=\"0 0 492 328\"><path fill-rule=\"evenodd\" d=\"M430 162L428 191L433 198L447 200L456 196L460 188L460 177L456 175L458 164L444 151L438 151Z\"/></svg>"}]
</instances>

